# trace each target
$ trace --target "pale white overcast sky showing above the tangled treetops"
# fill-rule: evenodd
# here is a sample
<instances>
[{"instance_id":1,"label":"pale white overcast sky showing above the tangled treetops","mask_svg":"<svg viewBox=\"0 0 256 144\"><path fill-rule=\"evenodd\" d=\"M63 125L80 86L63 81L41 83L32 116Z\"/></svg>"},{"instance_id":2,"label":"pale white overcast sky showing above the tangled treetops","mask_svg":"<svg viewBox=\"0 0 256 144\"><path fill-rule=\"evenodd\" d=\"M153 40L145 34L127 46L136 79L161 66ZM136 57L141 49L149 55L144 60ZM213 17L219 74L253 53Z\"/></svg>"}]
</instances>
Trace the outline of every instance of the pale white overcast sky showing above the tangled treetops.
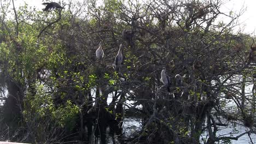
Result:
<instances>
[{"instance_id":1,"label":"pale white overcast sky showing above the tangled treetops","mask_svg":"<svg viewBox=\"0 0 256 144\"><path fill-rule=\"evenodd\" d=\"M59 0L56 0L57 2ZM72 0L67 0L72 1ZM83 1L83 0L82 0ZM19 5L21 3L26 2L28 7L36 7L37 9L43 9L42 0L15 0L15 4ZM45 2L45 1L44 1ZM236 27L236 31L242 29L244 33L251 34L255 36L256 32L256 1L255 0L222 0L224 3L221 10L227 14L230 11L234 13L239 13L241 9L245 9L243 15L240 17L238 21L240 26Z\"/></svg>"}]
</instances>

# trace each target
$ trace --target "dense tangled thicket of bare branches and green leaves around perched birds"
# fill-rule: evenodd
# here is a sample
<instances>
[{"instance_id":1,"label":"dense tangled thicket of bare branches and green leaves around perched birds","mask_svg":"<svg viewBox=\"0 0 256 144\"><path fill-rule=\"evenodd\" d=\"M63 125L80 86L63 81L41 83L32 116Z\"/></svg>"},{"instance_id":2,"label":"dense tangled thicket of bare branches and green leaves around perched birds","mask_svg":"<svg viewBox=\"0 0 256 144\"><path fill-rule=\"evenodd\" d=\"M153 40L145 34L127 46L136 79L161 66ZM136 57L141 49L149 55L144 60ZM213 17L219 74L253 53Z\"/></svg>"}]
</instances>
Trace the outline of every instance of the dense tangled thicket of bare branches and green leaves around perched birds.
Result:
<instances>
[{"instance_id":1,"label":"dense tangled thicket of bare branches and green leaves around perched birds","mask_svg":"<svg viewBox=\"0 0 256 144\"><path fill-rule=\"evenodd\" d=\"M126 111L142 118L131 143L230 143L255 133L253 38L233 32L241 15L222 13L222 1L60 4L65 9L47 13L1 1L1 140L92 143L94 134L106 143L107 127L121 135ZM160 81L163 67L171 93ZM217 135L232 124L246 132Z\"/></svg>"}]
</instances>

